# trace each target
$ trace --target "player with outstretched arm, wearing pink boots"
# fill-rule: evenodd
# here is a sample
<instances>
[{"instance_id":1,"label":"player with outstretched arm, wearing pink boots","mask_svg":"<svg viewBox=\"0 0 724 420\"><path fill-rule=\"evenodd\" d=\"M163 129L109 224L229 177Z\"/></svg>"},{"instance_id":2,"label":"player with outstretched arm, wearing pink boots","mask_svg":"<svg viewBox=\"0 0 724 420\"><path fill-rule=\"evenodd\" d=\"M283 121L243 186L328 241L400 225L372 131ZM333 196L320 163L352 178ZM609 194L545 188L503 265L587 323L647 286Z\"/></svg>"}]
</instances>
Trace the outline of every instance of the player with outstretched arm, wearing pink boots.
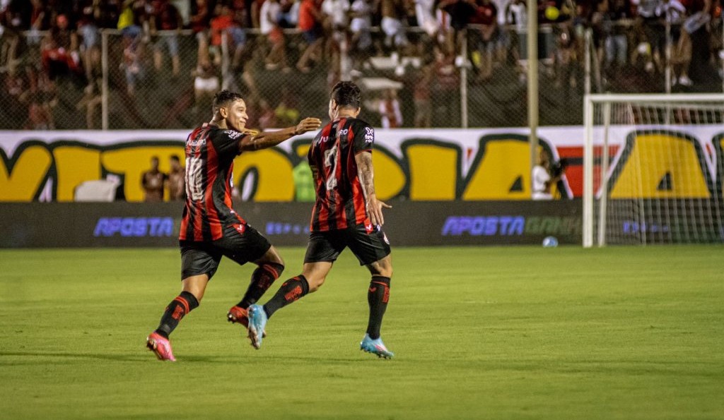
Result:
<instances>
[{"instance_id":1,"label":"player with outstretched arm, wearing pink boots","mask_svg":"<svg viewBox=\"0 0 724 420\"><path fill-rule=\"evenodd\" d=\"M244 326L246 309L284 270L277 249L231 207L234 158L319 129L321 121L306 118L296 127L256 133L245 128L247 119L241 95L222 90L214 96L211 122L194 129L186 140L186 204L179 234L182 291L166 307L159 327L146 338L146 346L161 360L176 360L169 334L198 307L222 255L239 265L249 261L258 265L243 299L227 314L230 322Z\"/></svg>"}]
</instances>

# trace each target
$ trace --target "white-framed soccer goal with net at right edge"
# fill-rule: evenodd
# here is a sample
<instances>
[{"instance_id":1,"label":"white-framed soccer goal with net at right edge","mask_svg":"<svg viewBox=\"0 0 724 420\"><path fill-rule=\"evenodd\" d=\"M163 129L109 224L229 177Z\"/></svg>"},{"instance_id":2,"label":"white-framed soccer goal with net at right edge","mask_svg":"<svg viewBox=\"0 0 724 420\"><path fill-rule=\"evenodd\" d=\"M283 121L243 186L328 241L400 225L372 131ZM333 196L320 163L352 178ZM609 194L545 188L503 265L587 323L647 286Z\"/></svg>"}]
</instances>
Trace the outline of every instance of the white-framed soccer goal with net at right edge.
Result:
<instances>
[{"instance_id":1,"label":"white-framed soccer goal with net at right edge","mask_svg":"<svg viewBox=\"0 0 724 420\"><path fill-rule=\"evenodd\" d=\"M724 95L587 95L584 247L724 243Z\"/></svg>"}]
</instances>

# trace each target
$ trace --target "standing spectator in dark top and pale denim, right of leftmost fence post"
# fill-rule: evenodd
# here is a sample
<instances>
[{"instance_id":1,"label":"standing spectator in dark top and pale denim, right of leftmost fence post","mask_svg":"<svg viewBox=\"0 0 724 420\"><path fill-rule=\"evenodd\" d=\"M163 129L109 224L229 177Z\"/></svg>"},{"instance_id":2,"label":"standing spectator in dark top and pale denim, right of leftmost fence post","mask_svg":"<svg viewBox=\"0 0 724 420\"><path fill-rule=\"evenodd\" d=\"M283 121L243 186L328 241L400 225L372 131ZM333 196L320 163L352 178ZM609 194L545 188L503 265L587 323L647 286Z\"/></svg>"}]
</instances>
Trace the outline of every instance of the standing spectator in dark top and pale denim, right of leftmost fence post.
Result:
<instances>
[{"instance_id":1,"label":"standing spectator in dark top and pale denim, right of leftmost fence post","mask_svg":"<svg viewBox=\"0 0 724 420\"><path fill-rule=\"evenodd\" d=\"M178 9L169 0L153 1L153 18L151 19L151 35L158 35L159 30L163 30L164 34L153 46L153 65L156 71L161 70L163 64L163 56L161 50L167 46L169 56L171 56L172 72L174 76L178 76L181 72L181 60L179 58L179 40L183 21Z\"/></svg>"}]
</instances>

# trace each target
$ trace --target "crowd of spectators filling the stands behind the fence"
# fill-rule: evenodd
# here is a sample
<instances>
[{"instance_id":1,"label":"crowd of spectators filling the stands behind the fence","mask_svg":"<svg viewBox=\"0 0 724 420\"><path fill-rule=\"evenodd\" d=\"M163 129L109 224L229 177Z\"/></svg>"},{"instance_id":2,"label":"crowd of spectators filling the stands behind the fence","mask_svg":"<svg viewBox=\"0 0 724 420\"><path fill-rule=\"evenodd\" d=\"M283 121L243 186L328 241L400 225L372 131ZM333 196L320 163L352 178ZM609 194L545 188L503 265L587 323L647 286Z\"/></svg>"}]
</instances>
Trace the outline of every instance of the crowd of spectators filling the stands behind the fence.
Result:
<instances>
[{"instance_id":1,"label":"crowd of spectators filling the stands behind the fence","mask_svg":"<svg viewBox=\"0 0 724 420\"><path fill-rule=\"evenodd\" d=\"M542 69L557 88L581 89L586 28L598 90L662 91L668 65L675 88L720 86L718 0L539 0L538 12L550 27ZM245 94L253 127L289 124L305 89L328 90L344 69L400 82L366 104L380 125L455 127L464 64L473 87L524 82L526 22L524 0L0 0L0 124L81 128L65 122L76 113L99 128L100 31L113 30L114 105L134 109L118 124L140 125L111 128L193 125L221 87ZM166 111L149 121L148 108Z\"/></svg>"}]
</instances>

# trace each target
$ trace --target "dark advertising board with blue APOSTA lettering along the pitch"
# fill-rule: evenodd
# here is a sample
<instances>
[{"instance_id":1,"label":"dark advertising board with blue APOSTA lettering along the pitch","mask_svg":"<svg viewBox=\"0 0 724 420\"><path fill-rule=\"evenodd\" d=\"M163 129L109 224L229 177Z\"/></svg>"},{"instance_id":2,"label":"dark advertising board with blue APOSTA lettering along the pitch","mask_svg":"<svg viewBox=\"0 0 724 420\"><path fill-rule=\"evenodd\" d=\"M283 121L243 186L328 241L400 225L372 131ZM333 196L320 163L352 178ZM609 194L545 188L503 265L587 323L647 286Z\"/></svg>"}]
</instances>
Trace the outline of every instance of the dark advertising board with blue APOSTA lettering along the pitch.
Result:
<instances>
[{"instance_id":1,"label":"dark advertising board with blue APOSTA lettering along the pitch","mask_svg":"<svg viewBox=\"0 0 724 420\"><path fill-rule=\"evenodd\" d=\"M581 244L581 200L390 201L384 230L393 246ZM306 245L311 204L237 202L235 209L277 246ZM182 205L0 203L1 248L175 247Z\"/></svg>"}]
</instances>

